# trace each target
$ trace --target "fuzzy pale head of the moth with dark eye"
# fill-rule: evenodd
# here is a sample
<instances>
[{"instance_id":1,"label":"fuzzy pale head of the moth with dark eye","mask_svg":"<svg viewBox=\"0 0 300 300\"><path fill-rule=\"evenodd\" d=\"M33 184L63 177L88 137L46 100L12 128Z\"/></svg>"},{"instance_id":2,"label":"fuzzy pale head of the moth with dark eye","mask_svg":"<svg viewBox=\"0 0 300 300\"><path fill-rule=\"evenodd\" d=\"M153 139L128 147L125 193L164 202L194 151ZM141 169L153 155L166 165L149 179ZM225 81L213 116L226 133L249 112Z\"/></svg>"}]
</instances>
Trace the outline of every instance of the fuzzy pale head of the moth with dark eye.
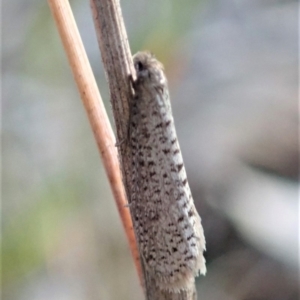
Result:
<instances>
[{"instance_id":1,"label":"fuzzy pale head of the moth with dark eye","mask_svg":"<svg viewBox=\"0 0 300 300\"><path fill-rule=\"evenodd\" d=\"M150 52L138 52L133 56L134 68L139 82L164 85L166 77L163 65Z\"/></svg>"}]
</instances>

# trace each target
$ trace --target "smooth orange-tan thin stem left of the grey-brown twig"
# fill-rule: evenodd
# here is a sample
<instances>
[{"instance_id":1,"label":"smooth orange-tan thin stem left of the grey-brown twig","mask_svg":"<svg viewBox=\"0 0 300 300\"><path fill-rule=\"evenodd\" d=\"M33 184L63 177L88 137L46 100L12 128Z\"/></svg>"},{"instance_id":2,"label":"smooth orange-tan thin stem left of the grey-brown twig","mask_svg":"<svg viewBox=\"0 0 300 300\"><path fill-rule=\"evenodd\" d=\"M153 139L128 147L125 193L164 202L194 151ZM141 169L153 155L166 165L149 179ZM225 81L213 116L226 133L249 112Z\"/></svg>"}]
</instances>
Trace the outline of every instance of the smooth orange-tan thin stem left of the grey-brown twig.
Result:
<instances>
[{"instance_id":1,"label":"smooth orange-tan thin stem left of the grey-brown twig","mask_svg":"<svg viewBox=\"0 0 300 300\"><path fill-rule=\"evenodd\" d=\"M48 0L63 42L82 102L94 132L102 162L116 201L123 227L130 244L131 254L142 281L139 254L133 232L131 216L126 207L126 194L122 183L115 137L107 117L101 95L84 50L69 2Z\"/></svg>"}]
</instances>

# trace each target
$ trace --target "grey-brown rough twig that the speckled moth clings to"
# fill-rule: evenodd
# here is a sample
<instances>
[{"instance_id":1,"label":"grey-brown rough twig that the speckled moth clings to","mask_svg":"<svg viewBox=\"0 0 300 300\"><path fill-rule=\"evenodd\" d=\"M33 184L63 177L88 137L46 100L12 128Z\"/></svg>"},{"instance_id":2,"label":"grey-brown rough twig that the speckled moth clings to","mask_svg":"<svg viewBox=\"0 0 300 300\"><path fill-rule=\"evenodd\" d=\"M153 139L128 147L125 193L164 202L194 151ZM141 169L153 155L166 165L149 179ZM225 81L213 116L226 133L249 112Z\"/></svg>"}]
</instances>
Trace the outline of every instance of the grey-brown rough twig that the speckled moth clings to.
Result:
<instances>
[{"instance_id":1,"label":"grey-brown rough twig that the speckled moth clings to","mask_svg":"<svg viewBox=\"0 0 300 300\"><path fill-rule=\"evenodd\" d=\"M118 148L123 182L130 202L131 191L128 182L129 176L132 174L131 152L128 151L128 143L122 143L122 141L126 140L128 133L128 108L132 97L130 77L135 77L135 71L119 0L90 0L90 2L102 61L109 84L117 139L119 141ZM133 224L135 225L134 218ZM181 292L166 292L158 289L153 278L155 275L145 268L143 260L141 262L147 300L196 299L194 285L190 289L187 288L187 290Z\"/></svg>"}]
</instances>

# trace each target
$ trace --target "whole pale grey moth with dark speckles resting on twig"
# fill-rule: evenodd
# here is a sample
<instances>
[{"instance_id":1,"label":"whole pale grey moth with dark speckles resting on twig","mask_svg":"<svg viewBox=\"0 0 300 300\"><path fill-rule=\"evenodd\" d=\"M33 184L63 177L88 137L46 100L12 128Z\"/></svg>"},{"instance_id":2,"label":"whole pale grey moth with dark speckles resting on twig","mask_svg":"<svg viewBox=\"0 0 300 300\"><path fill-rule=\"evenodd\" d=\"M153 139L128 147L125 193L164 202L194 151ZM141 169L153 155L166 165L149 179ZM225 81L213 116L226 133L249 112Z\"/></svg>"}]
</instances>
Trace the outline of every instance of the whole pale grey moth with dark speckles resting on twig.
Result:
<instances>
[{"instance_id":1,"label":"whole pale grey moth with dark speckles resting on twig","mask_svg":"<svg viewBox=\"0 0 300 300\"><path fill-rule=\"evenodd\" d=\"M180 291L205 274L205 238L177 140L163 66L148 52L134 57L130 104L131 201L136 235L157 286Z\"/></svg>"}]
</instances>

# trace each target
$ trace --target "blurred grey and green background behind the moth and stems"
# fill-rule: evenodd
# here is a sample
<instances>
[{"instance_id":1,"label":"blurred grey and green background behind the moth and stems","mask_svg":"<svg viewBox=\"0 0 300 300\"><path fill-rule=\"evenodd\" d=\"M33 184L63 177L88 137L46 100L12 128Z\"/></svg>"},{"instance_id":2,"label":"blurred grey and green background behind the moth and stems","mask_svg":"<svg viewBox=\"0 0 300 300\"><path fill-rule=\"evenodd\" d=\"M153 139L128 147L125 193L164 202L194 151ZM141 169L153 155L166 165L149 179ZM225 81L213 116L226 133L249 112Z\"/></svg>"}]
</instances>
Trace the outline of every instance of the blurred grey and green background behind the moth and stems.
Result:
<instances>
[{"instance_id":1,"label":"blurred grey and green background behind the moth and stems","mask_svg":"<svg viewBox=\"0 0 300 300\"><path fill-rule=\"evenodd\" d=\"M102 97L89 1L72 1ZM207 240L200 300L299 299L298 1L122 1L165 65ZM2 296L143 299L46 1L2 6Z\"/></svg>"}]
</instances>

